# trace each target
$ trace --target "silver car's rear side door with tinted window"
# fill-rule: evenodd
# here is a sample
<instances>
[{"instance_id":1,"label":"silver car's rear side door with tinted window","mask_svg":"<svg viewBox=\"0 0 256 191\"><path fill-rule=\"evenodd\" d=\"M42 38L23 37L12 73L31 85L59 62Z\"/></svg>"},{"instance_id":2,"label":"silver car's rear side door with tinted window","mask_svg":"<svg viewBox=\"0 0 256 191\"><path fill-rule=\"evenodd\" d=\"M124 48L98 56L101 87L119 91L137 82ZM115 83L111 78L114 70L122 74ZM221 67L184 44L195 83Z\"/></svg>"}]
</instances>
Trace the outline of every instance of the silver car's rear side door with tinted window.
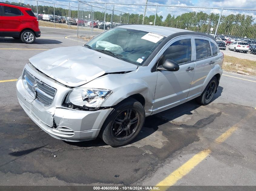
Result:
<instances>
[{"instance_id":1,"label":"silver car's rear side door with tinted window","mask_svg":"<svg viewBox=\"0 0 256 191\"><path fill-rule=\"evenodd\" d=\"M215 65L215 57L212 56L211 42L209 39L194 36L193 43L195 46L195 73L191 82L188 99L193 99L201 95L202 91L204 91L204 82Z\"/></svg>"}]
</instances>

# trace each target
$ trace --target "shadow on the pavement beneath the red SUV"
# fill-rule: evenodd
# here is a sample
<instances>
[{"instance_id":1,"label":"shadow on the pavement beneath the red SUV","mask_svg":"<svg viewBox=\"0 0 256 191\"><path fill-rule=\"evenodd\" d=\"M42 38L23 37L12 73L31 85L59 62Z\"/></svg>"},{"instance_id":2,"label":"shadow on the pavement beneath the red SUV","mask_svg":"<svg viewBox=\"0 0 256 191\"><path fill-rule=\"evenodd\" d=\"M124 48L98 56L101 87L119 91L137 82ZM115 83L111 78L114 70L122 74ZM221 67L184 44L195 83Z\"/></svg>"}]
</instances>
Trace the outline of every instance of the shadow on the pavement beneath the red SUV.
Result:
<instances>
[{"instance_id":1,"label":"shadow on the pavement beneath the red SUV","mask_svg":"<svg viewBox=\"0 0 256 191\"><path fill-rule=\"evenodd\" d=\"M22 40L20 39L14 39L14 38L6 38L6 37L0 37L0 43L18 43L18 44L24 44ZM52 40L52 39L38 39L36 38L34 43L32 44L61 44L61 41L58 40Z\"/></svg>"}]
</instances>

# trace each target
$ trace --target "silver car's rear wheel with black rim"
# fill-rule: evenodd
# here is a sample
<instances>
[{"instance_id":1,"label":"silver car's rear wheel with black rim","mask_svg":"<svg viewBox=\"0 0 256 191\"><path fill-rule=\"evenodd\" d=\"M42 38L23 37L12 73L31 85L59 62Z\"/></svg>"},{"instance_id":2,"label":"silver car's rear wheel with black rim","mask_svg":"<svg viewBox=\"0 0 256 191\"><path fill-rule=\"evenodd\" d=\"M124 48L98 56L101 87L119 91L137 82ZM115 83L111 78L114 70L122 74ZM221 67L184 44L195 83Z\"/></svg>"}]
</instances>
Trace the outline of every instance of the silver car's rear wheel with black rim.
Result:
<instances>
[{"instance_id":1,"label":"silver car's rear wheel with black rim","mask_svg":"<svg viewBox=\"0 0 256 191\"><path fill-rule=\"evenodd\" d=\"M217 88L217 78L214 76L213 78L211 78L211 80L207 84L201 96L196 98L196 101L201 105L209 104L214 96L216 88Z\"/></svg>"}]
</instances>

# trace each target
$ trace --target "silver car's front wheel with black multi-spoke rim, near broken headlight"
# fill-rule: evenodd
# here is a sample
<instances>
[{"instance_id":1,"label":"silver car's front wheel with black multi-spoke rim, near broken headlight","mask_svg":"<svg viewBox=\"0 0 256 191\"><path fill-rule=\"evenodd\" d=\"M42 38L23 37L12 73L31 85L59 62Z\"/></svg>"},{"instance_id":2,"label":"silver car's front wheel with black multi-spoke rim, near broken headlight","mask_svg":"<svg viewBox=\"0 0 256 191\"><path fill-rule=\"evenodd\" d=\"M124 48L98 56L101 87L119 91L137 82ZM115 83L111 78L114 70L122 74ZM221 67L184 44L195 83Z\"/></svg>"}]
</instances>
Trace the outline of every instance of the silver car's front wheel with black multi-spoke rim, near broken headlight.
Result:
<instances>
[{"instance_id":1,"label":"silver car's front wheel with black multi-spoke rim, near broken headlight","mask_svg":"<svg viewBox=\"0 0 256 191\"><path fill-rule=\"evenodd\" d=\"M99 136L112 147L131 142L145 122L145 110L140 102L128 98L114 107L101 128Z\"/></svg>"}]
</instances>

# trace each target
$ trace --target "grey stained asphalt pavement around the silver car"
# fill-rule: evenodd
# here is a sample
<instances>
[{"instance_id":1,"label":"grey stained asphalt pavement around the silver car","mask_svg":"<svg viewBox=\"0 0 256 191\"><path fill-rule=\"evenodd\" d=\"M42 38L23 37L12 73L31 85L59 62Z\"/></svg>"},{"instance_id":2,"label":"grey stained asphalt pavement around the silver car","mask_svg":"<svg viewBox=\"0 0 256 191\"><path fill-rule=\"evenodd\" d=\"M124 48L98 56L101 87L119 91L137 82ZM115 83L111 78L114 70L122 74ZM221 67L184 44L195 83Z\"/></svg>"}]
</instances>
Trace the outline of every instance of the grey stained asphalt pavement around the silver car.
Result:
<instances>
[{"instance_id":1,"label":"grey stained asphalt pavement around the silver car","mask_svg":"<svg viewBox=\"0 0 256 191\"><path fill-rule=\"evenodd\" d=\"M40 29L31 45L0 37L0 81L17 79L42 51L85 43L76 30ZM224 72L209 105L191 100L149 116L131 144L112 148L52 138L19 106L15 81L0 82L0 185L255 186L255 94L254 78ZM175 170L183 174L174 181Z\"/></svg>"}]
</instances>

